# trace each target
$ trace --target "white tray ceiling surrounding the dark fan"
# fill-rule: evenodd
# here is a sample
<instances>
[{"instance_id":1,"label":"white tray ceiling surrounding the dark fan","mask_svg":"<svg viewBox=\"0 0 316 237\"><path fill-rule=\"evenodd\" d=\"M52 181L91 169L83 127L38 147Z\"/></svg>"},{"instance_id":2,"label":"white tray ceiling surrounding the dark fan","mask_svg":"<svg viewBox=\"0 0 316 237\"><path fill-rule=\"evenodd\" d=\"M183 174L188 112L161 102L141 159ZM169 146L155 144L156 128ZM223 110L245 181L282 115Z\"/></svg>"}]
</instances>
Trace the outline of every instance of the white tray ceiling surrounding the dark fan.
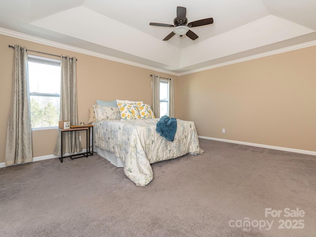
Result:
<instances>
[{"instance_id":1,"label":"white tray ceiling surrounding the dark fan","mask_svg":"<svg viewBox=\"0 0 316 237\"><path fill-rule=\"evenodd\" d=\"M214 23L162 41L172 28L149 23L173 24L177 6ZM183 73L315 41L315 13L316 0L0 0L0 28Z\"/></svg>"}]
</instances>

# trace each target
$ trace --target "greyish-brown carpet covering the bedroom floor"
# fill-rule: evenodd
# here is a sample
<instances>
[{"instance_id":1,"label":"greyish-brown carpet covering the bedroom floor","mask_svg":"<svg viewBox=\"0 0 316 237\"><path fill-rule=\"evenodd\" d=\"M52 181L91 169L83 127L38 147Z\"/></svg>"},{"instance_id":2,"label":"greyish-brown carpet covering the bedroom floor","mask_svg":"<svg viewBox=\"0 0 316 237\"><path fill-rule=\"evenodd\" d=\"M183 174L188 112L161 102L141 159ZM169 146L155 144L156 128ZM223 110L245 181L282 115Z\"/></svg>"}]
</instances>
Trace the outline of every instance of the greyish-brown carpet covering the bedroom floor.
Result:
<instances>
[{"instance_id":1,"label":"greyish-brown carpet covering the bedroom floor","mask_svg":"<svg viewBox=\"0 0 316 237\"><path fill-rule=\"evenodd\" d=\"M136 187L98 155L0 169L1 237L314 237L316 157L200 139Z\"/></svg>"}]
</instances>

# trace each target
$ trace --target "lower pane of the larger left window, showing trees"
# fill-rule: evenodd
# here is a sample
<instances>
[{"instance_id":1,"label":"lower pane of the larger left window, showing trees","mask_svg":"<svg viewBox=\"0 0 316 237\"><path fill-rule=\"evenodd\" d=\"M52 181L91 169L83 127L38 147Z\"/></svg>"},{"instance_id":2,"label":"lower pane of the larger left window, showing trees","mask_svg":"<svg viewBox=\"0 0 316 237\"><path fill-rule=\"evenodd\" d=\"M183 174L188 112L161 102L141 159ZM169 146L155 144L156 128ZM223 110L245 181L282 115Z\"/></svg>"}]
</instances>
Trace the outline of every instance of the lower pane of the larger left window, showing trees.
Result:
<instances>
[{"instance_id":1,"label":"lower pane of the larger left window, showing trees","mask_svg":"<svg viewBox=\"0 0 316 237\"><path fill-rule=\"evenodd\" d=\"M35 127L57 127L59 120L59 97L30 96L31 124Z\"/></svg>"}]
</instances>

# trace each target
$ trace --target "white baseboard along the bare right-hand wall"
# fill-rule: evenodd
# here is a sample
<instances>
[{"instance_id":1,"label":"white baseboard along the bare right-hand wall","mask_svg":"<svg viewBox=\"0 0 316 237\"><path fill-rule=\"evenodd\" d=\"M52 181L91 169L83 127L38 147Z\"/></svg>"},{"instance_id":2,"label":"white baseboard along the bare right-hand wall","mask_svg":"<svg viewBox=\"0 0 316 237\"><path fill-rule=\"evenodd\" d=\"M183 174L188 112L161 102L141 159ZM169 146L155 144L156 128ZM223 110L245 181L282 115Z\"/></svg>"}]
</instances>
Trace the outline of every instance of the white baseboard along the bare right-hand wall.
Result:
<instances>
[{"instance_id":1,"label":"white baseboard along the bare right-hand wall","mask_svg":"<svg viewBox=\"0 0 316 237\"><path fill-rule=\"evenodd\" d=\"M258 144L258 143L250 143L250 142L240 142L240 141L228 140L228 139L222 139L222 138L215 138L215 137L203 137L203 136L198 136L198 137L202 138L202 139L207 139L207 140L236 143L236 144L246 145L246 146L262 147L262 148L280 150L280 151L285 151L285 152L295 152L295 153L301 153L301 154L307 154L307 155L316 156L316 152L313 152L313 151L299 150L299 149L286 148L286 147L276 147L276 146L270 146L270 145L264 145L264 144Z\"/></svg>"}]
</instances>

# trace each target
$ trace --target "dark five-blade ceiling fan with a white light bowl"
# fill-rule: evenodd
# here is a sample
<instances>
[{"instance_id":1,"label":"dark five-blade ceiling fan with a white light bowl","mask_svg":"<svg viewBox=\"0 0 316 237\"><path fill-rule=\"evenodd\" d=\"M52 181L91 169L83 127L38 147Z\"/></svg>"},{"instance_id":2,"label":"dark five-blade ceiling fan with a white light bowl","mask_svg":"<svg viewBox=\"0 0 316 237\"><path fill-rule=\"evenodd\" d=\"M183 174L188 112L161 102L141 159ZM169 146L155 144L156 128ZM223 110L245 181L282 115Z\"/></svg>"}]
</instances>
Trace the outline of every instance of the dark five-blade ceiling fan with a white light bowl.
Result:
<instances>
[{"instance_id":1,"label":"dark five-blade ceiling fan with a white light bowl","mask_svg":"<svg viewBox=\"0 0 316 237\"><path fill-rule=\"evenodd\" d=\"M151 26L162 26L162 27L174 27L173 31L167 35L163 40L170 40L175 34L182 37L186 35L191 40L198 38L197 34L191 31L189 28L197 26L205 26L213 24L213 18L206 18L188 23L187 8L183 6L177 6L177 17L173 20L173 25L163 23L149 23Z\"/></svg>"}]
</instances>

